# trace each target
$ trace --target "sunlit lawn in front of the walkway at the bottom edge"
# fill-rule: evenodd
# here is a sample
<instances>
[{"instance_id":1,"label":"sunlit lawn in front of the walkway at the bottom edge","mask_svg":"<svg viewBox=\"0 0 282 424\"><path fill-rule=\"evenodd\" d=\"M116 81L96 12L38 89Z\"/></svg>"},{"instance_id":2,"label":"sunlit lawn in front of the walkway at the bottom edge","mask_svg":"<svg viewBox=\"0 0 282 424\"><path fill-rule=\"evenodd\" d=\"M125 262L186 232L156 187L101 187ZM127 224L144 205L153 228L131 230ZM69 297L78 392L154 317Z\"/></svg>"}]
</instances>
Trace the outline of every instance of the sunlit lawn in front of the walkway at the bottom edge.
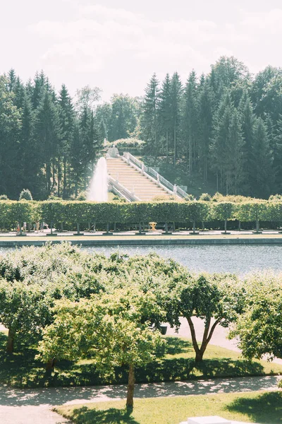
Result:
<instances>
[{"instance_id":1,"label":"sunlit lawn in front of the walkway at the bottom edge","mask_svg":"<svg viewBox=\"0 0 282 424\"><path fill-rule=\"evenodd\" d=\"M247 423L282 423L282 393L251 393L177 396L135 400L133 413L125 401L106 401L55 409L77 424L179 424L192 416L221 416Z\"/></svg>"}]
</instances>

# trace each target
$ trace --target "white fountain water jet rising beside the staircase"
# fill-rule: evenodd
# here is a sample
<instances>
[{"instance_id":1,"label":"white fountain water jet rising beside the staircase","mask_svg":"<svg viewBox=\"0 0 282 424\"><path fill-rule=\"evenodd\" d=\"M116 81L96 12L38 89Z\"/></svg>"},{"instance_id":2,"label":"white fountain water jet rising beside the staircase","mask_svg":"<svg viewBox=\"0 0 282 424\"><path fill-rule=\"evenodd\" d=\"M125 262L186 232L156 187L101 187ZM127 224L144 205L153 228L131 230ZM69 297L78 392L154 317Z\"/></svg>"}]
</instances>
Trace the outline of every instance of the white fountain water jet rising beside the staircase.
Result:
<instances>
[{"instance_id":1,"label":"white fountain water jet rising beside the staircase","mask_svg":"<svg viewBox=\"0 0 282 424\"><path fill-rule=\"evenodd\" d=\"M108 201L108 170L106 159L99 158L90 182L87 200Z\"/></svg>"}]
</instances>

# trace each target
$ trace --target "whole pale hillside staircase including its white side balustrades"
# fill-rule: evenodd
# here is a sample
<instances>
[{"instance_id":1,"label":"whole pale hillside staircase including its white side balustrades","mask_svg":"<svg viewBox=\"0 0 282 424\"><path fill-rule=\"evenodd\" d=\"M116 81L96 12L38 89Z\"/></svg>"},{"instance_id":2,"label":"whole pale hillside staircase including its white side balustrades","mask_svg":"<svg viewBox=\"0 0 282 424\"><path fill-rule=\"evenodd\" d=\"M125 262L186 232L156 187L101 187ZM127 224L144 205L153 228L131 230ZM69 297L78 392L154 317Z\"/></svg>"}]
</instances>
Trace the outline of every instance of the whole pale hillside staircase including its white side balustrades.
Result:
<instances>
[{"instance_id":1,"label":"whole pale hillside staircase including its white side balustrades","mask_svg":"<svg viewBox=\"0 0 282 424\"><path fill-rule=\"evenodd\" d=\"M128 201L150 201L155 196L165 198L171 194L182 198L186 196L180 187L173 186L130 153L106 158L106 164L111 188Z\"/></svg>"}]
</instances>

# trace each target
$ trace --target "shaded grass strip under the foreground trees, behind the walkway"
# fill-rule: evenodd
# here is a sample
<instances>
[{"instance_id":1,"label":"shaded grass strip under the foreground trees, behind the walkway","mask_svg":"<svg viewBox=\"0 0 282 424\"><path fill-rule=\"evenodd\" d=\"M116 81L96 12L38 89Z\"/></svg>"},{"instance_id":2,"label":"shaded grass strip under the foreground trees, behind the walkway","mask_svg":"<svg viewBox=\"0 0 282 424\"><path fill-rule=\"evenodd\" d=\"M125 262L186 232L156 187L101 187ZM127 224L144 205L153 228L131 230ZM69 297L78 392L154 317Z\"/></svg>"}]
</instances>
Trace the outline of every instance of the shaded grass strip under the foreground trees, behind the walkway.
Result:
<instances>
[{"instance_id":1,"label":"shaded grass strip under the foreground trees, behind the walkway","mask_svg":"<svg viewBox=\"0 0 282 424\"><path fill-rule=\"evenodd\" d=\"M282 365L266 361L249 362L236 352L218 346L208 346L204 361L195 364L192 343L185 338L167 337L164 351L157 360L146 367L137 368L136 382L169 382L197 378L242 377L246 375L282 374ZM51 374L44 364L35 360L36 351L16 346L16 353L7 355L6 334L0 332L0 383L12 387L60 387L90 386L99 384L123 384L127 382L127 370L116 368L113 377L100 377L94 363L60 361ZM164 355L164 356L162 356Z\"/></svg>"}]
</instances>

